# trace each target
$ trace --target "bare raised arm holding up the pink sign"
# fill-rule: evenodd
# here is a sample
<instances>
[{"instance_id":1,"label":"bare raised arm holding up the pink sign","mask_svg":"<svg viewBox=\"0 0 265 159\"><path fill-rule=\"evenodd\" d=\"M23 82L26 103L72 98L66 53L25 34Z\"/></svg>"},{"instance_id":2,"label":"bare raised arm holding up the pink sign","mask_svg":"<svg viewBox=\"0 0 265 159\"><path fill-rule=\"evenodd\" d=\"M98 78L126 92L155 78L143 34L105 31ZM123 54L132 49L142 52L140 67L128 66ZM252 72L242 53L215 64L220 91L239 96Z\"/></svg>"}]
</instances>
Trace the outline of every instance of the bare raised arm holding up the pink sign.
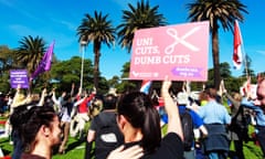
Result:
<instances>
[{"instance_id":1,"label":"bare raised arm holding up the pink sign","mask_svg":"<svg viewBox=\"0 0 265 159\"><path fill-rule=\"evenodd\" d=\"M179 116L179 109L169 94L171 81L166 78L162 83L161 96L165 100L165 107L168 113L168 132L176 132L183 140L183 132Z\"/></svg>"}]
</instances>

